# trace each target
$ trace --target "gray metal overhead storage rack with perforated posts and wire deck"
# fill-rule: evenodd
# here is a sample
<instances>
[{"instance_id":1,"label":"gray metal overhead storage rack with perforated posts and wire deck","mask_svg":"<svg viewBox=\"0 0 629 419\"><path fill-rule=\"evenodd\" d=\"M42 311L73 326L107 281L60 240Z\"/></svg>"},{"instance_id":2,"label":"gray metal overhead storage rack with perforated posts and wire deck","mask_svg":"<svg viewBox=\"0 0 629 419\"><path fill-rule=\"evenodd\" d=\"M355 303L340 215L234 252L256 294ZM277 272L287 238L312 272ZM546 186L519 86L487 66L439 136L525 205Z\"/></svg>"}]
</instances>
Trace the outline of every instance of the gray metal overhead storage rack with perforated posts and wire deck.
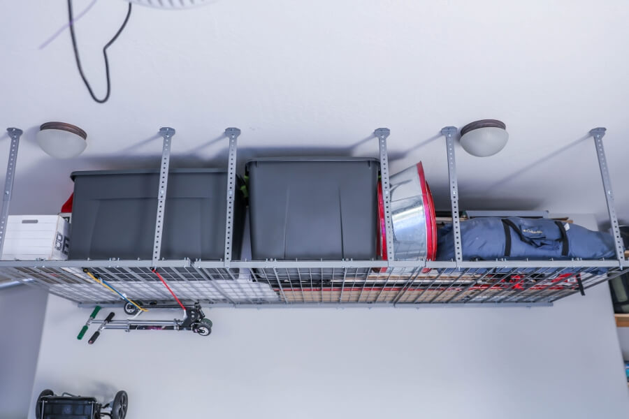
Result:
<instances>
[{"instance_id":1,"label":"gray metal overhead storage rack with perforated posts and wire deck","mask_svg":"<svg viewBox=\"0 0 629 419\"><path fill-rule=\"evenodd\" d=\"M125 297L143 304L174 302L153 272L157 270L180 300L199 301L210 307L530 307L551 305L629 271L602 145L605 128L594 128L590 133L612 223L616 247L613 260L463 260L454 154L457 129L447 126L441 132L447 149L455 260L396 260L393 240L386 241L388 260L232 260L233 197L240 130L227 128L228 203L222 260L161 259L164 213L156 208L152 260L3 260L0 261L0 277L43 286L52 294L85 305L122 302L119 295L94 281L90 274L112 285ZM8 133L11 145L0 214L0 253L22 131L8 128ZM165 205L175 130L161 128L160 134L164 140L158 195L161 208ZM378 128L374 135L379 144L386 235L392 237L386 152L389 129Z\"/></svg>"}]
</instances>

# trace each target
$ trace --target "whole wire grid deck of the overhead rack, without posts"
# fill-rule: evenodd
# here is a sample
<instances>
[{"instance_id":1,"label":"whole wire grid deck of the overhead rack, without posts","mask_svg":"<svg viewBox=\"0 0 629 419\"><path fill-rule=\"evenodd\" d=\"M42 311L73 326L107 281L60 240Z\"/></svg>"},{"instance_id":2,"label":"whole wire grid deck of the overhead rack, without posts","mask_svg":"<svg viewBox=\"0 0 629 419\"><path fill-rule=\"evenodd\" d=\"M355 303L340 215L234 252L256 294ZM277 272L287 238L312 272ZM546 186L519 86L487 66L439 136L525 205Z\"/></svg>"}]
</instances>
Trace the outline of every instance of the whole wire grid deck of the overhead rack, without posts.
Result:
<instances>
[{"instance_id":1,"label":"whole wire grid deck of the overhead rack, without posts","mask_svg":"<svg viewBox=\"0 0 629 419\"><path fill-rule=\"evenodd\" d=\"M379 272L376 272L379 271ZM171 295L148 267L95 267L91 272L145 305ZM600 267L466 268L199 268L160 267L182 301L215 306L306 304L547 304L629 269ZM1 275L48 288L82 303L121 303L80 267L3 267ZM581 282L581 286L579 285Z\"/></svg>"}]
</instances>

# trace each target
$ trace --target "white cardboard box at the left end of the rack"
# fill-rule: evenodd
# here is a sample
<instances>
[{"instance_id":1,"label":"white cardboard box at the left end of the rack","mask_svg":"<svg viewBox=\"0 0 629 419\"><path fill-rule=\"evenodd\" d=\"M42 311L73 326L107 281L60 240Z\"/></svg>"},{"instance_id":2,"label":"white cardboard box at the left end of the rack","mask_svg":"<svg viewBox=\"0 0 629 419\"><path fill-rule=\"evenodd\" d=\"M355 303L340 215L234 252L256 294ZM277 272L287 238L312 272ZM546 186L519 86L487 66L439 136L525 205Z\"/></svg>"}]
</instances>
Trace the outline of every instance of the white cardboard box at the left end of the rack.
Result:
<instances>
[{"instance_id":1,"label":"white cardboard box at the left end of the rack","mask_svg":"<svg viewBox=\"0 0 629 419\"><path fill-rule=\"evenodd\" d=\"M66 260L70 224L58 215L10 215L2 260Z\"/></svg>"}]
</instances>

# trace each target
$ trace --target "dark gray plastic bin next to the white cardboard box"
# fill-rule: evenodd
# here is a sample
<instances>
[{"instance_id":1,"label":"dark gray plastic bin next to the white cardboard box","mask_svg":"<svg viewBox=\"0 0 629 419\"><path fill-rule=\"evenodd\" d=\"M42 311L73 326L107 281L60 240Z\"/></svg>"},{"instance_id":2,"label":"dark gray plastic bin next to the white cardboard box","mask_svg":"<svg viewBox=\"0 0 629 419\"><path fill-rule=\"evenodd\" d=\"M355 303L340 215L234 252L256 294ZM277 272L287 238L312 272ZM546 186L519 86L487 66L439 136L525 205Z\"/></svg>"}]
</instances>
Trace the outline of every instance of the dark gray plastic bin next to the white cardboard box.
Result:
<instances>
[{"instance_id":1,"label":"dark gray plastic bin next to the white cardboard box","mask_svg":"<svg viewBox=\"0 0 629 419\"><path fill-rule=\"evenodd\" d=\"M151 259L159 170L73 172L71 259ZM161 257L224 257L227 174L216 169L171 170ZM245 202L234 200L233 258L240 257Z\"/></svg>"}]
</instances>

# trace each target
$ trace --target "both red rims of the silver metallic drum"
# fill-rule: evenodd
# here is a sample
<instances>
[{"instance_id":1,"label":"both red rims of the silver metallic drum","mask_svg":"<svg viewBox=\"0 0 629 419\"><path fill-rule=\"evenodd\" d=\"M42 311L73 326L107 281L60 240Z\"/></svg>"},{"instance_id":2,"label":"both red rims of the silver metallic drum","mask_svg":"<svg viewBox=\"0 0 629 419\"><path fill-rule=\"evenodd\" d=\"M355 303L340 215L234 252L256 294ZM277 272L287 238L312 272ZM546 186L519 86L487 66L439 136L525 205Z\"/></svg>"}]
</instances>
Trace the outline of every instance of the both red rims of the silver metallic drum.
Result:
<instances>
[{"instance_id":1,"label":"both red rims of the silver metallic drum","mask_svg":"<svg viewBox=\"0 0 629 419\"><path fill-rule=\"evenodd\" d=\"M426 214L426 260L435 260L437 256L437 217L435 216L435 204L421 161L417 163L417 174L421 184L421 195L424 200L424 212ZM386 222L384 221L384 198L382 198L382 182L378 182L378 240L377 253L382 260L387 260L386 255Z\"/></svg>"}]
</instances>

